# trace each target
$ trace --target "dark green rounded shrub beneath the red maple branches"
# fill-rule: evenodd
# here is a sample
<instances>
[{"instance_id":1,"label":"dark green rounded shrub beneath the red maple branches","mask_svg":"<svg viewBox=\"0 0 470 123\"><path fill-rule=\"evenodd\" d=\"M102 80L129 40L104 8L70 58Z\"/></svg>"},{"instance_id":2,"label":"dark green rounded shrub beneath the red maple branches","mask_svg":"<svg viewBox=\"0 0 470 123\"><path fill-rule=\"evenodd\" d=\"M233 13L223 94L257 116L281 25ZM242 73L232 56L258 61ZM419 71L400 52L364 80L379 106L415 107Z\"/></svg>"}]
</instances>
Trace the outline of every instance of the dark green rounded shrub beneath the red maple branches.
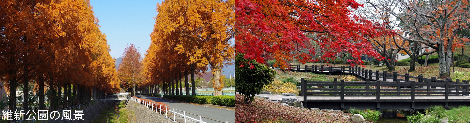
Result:
<instances>
[{"instance_id":1,"label":"dark green rounded shrub beneath the red maple branches","mask_svg":"<svg viewBox=\"0 0 470 123\"><path fill-rule=\"evenodd\" d=\"M273 82L276 72L266 65L245 59L243 56L242 53L235 56L235 76L241 76L235 81L235 90L245 96L244 103L250 104L255 94L259 94L265 85Z\"/></svg>"}]
</instances>

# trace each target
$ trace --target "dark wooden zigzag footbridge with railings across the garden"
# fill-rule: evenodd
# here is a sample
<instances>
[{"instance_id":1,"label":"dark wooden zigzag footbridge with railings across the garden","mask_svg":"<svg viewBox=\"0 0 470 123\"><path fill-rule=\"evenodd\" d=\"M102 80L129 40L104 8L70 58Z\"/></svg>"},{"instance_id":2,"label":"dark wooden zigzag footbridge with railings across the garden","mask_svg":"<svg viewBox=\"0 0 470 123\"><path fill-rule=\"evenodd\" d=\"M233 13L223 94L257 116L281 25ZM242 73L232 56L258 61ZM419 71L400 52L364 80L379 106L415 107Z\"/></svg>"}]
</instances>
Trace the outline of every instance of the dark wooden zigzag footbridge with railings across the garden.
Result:
<instances>
[{"instance_id":1,"label":"dark wooden zigzag footbridge with railings across the garden","mask_svg":"<svg viewBox=\"0 0 470 123\"><path fill-rule=\"evenodd\" d=\"M360 67L291 66L290 71L329 75L354 75L364 81L307 81L302 78L305 108L321 109L426 109L470 105L468 80L438 80ZM315 88L317 87L317 88ZM328 88L327 88L328 87Z\"/></svg>"}]
</instances>

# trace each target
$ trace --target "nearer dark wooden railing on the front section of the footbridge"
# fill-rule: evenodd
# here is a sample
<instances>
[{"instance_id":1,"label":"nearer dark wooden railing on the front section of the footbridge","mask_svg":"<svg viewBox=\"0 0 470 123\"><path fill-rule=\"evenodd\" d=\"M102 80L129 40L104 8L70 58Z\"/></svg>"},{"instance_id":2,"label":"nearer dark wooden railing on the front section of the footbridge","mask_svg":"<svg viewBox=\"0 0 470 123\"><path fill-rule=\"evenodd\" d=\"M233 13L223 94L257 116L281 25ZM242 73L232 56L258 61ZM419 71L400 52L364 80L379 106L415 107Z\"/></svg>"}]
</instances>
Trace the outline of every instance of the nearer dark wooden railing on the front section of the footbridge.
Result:
<instances>
[{"instance_id":1,"label":"nearer dark wooden railing on the front section of the footbridge","mask_svg":"<svg viewBox=\"0 0 470 123\"><path fill-rule=\"evenodd\" d=\"M423 82L409 81L306 81L301 79L302 96L307 101L308 96L340 96L340 101L344 101L345 96L376 96L379 101L383 96L411 96L411 101L415 101L415 96L444 96L444 100L449 100L449 96L469 95L469 81L462 82L452 81L431 81L430 79ZM307 87L333 87L333 88L307 88ZM348 88L346 88L348 87ZM351 88L352 87L352 88ZM375 88L371 88L375 87ZM380 88L380 87L396 87L396 88ZM401 88L410 87L410 88ZM426 88L415 88L426 87ZM443 87L443 88L431 88ZM453 92L454 91L454 92ZM417 95L418 94L418 95ZM439 95L433 95L439 94ZM452 95L451 95L452 94ZM432 100L427 100L432 101Z\"/></svg>"}]
</instances>

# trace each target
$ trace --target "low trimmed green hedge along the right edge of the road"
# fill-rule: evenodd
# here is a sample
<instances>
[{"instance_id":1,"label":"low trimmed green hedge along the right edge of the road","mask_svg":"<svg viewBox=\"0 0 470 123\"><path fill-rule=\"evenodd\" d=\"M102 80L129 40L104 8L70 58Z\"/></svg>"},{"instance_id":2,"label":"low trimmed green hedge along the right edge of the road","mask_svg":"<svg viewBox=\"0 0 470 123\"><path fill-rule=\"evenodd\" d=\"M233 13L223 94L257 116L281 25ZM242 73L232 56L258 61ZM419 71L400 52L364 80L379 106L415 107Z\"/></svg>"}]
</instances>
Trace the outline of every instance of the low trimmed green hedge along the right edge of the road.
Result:
<instances>
[{"instance_id":1,"label":"low trimmed green hedge along the right edge of the road","mask_svg":"<svg viewBox=\"0 0 470 123\"><path fill-rule=\"evenodd\" d=\"M219 106L235 107L235 96L209 96L209 95L163 95L164 98L187 101L199 104L214 104Z\"/></svg>"}]
</instances>

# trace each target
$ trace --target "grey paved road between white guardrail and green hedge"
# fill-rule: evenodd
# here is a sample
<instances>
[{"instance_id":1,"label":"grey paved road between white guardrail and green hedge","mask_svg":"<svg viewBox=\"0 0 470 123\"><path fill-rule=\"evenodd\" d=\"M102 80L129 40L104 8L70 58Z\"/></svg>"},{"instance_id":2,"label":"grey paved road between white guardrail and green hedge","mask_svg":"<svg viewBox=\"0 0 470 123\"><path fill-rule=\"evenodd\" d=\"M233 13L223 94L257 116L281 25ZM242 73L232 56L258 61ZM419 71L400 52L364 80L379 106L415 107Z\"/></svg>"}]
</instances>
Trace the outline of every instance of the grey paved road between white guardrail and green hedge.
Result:
<instances>
[{"instance_id":1,"label":"grey paved road between white guardrail and green hedge","mask_svg":"<svg viewBox=\"0 0 470 123\"><path fill-rule=\"evenodd\" d=\"M146 95L137 95L137 97L142 98L142 99L152 100L152 101L163 102L169 105L171 109L174 108L178 110L184 110L187 113L197 115L197 116L194 116L194 115L187 114L187 116L190 116L196 119L199 119L199 115L210 118L210 119L203 118L203 122L225 123L227 121L228 123L235 123L235 109L226 109L226 108L218 108L218 107L206 106L206 105L183 103L179 101L170 101L170 100L165 100L163 98L150 97ZM222 122L214 121L211 119L215 119L215 120L222 121Z\"/></svg>"}]
</instances>

